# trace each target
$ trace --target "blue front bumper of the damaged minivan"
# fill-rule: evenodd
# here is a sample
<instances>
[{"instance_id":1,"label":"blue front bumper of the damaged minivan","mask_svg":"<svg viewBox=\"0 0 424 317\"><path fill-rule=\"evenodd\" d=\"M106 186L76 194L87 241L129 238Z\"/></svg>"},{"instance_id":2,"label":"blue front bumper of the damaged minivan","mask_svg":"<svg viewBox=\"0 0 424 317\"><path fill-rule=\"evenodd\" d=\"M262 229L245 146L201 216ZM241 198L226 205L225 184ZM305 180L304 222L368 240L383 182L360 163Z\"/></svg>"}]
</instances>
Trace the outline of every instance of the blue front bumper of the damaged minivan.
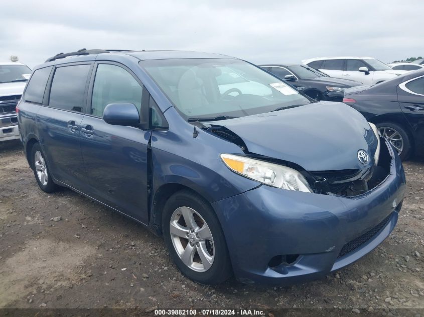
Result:
<instances>
[{"instance_id":1,"label":"blue front bumper of the damaged minivan","mask_svg":"<svg viewBox=\"0 0 424 317\"><path fill-rule=\"evenodd\" d=\"M267 284L316 279L374 249L393 230L405 192L402 164L391 147L389 152L387 178L359 196L261 185L213 203L236 278ZM290 265L268 266L274 256L287 254L300 256Z\"/></svg>"}]
</instances>

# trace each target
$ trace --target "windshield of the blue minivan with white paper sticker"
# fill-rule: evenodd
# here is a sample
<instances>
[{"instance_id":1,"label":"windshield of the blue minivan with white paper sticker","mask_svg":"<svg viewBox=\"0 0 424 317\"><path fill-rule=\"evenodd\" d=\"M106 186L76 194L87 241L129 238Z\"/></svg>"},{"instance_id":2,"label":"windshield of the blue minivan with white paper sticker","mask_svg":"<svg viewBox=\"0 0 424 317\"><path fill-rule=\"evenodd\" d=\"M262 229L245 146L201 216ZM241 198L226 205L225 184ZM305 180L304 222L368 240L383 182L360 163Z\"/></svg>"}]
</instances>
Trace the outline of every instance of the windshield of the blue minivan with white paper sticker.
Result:
<instances>
[{"instance_id":1,"label":"windshield of the blue minivan with white paper sticker","mask_svg":"<svg viewBox=\"0 0 424 317\"><path fill-rule=\"evenodd\" d=\"M236 59L147 60L140 65L190 121L311 103L288 84Z\"/></svg>"}]
</instances>

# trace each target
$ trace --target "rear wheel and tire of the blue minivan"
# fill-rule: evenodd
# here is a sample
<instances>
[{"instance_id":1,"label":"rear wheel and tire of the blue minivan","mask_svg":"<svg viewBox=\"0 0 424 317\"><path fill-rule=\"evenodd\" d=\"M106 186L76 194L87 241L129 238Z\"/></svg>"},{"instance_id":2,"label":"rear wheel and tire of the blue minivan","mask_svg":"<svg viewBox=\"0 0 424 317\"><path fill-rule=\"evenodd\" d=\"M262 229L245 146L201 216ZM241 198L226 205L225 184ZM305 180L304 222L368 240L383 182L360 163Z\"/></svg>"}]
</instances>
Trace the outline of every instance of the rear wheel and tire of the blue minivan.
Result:
<instances>
[{"instance_id":1,"label":"rear wheel and tire of the blue minivan","mask_svg":"<svg viewBox=\"0 0 424 317\"><path fill-rule=\"evenodd\" d=\"M55 192L58 186L53 182L46 158L39 143L35 143L31 150L31 167L34 171L35 180L42 191Z\"/></svg>"}]
</instances>

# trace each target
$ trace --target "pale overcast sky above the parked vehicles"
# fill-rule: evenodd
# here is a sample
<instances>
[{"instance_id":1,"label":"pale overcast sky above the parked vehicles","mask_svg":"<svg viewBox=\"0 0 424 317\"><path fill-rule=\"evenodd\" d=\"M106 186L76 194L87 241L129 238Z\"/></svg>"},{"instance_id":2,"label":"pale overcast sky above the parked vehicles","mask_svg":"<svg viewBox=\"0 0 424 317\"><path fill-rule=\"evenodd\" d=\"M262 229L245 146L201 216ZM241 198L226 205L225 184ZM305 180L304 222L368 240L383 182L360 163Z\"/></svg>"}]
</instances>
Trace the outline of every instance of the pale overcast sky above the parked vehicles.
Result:
<instances>
[{"instance_id":1,"label":"pale overcast sky above the parked vehicles","mask_svg":"<svg viewBox=\"0 0 424 317\"><path fill-rule=\"evenodd\" d=\"M87 49L194 50L253 63L424 55L421 0L2 1L0 62Z\"/></svg>"}]
</instances>

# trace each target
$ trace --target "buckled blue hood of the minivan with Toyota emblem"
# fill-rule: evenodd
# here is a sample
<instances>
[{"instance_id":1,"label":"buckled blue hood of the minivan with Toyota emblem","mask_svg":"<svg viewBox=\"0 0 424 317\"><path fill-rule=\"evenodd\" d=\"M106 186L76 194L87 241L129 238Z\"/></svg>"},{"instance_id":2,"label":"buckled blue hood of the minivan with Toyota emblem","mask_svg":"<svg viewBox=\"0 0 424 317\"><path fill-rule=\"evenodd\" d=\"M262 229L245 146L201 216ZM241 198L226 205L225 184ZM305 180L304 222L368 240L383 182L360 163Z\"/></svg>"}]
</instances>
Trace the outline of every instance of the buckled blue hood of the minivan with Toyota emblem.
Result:
<instances>
[{"instance_id":1,"label":"buckled blue hood of the minivan with Toyota emblem","mask_svg":"<svg viewBox=\"0 0 424 317\"><path fill-rule=\"evenodd\" d=\"M289 161L307 171L365 170L358 151L371 158L377 138L366 119L353 108L319 102L253 116L214 121L239 136L249 153Z\"/></svg>"}]
</instances>

